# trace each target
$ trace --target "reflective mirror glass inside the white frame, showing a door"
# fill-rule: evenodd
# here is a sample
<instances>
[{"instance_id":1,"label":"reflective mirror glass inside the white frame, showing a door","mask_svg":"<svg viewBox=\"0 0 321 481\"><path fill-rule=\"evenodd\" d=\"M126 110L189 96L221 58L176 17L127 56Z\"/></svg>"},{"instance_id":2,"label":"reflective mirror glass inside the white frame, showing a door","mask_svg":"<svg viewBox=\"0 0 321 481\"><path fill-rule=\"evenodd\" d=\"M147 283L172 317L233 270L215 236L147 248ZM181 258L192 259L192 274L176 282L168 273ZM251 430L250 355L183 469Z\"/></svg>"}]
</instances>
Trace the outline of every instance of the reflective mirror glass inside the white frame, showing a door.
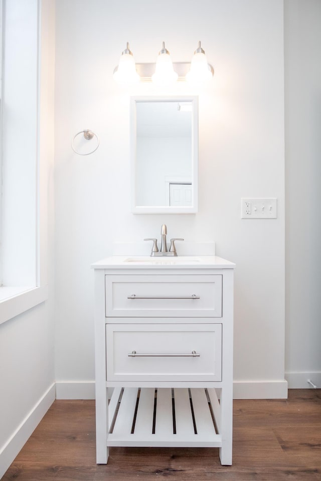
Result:
<instances>
[{"instance_id":1,"label":"reflective mirror glass inside the white frame, showing a door","mask_svg":"<svg viewBox=\"0 0 321 481\"><path fill-rule=\"evenodd\" d=\"M136 122L137 205L191 205L192 103L139 102Z\"/></svg>"}]
</instances>

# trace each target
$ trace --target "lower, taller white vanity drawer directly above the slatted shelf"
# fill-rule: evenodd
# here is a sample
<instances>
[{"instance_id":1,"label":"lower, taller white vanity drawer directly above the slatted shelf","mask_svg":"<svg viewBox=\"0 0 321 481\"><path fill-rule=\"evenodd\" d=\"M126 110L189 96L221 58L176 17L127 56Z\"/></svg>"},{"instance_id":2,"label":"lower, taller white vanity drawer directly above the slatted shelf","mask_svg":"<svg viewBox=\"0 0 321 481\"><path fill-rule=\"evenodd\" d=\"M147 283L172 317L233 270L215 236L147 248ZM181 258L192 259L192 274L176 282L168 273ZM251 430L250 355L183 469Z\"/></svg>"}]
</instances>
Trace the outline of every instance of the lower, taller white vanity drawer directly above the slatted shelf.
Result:
<instances>
[{"instance_id":1,"label":"lower, taller white vanity drawer directly above the slatted shelf","mask_svg":"<svg viewBox=\"0 0 321 481\"><path fill-rule=\"evenodd\" d=\"M222 324L107 324L107 381L221 381Z\"/></svg>"}]
</instances>

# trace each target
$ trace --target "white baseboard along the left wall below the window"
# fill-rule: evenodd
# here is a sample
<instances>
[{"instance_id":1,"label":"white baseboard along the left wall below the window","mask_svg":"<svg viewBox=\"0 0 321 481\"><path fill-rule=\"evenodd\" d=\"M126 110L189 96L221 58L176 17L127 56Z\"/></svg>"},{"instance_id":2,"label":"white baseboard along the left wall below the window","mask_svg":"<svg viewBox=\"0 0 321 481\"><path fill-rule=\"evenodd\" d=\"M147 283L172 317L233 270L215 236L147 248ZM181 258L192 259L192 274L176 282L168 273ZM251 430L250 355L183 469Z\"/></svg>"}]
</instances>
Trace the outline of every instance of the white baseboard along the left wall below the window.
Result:
<instances>
[{"instance_id":1,"label":"white baseboard along the left wall below the window","mask_svg":"<svg viewBox=\"0 0 321 481\"><path fill-rule=\"evenodd\" d=\"M17 427L8 441L0 448L0 479L40 423L55 398L56 389L55 383L53 383Z\"/></svg>"}]
</instances>

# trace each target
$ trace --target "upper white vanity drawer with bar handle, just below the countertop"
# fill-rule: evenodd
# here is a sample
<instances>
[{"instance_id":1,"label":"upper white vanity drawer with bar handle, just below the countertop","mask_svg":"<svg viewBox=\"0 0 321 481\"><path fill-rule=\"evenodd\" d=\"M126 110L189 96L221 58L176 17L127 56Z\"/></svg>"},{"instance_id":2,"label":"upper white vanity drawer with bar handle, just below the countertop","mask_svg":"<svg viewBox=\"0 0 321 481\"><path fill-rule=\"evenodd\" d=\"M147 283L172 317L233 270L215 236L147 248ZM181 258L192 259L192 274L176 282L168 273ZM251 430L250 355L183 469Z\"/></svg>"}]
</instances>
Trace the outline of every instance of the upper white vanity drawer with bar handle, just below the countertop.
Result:
<instances>
[{"instance_id":1,"label":"upper white vanity drawer with bar handle, just below the countertop","mask_svg":"<svg viewBox=\"0 0 321 481\"><path fill-rule=\"evenodd\" d=\"M106 317L222 317L221 275L106 275Z\"/></svg>"}]
</instances>

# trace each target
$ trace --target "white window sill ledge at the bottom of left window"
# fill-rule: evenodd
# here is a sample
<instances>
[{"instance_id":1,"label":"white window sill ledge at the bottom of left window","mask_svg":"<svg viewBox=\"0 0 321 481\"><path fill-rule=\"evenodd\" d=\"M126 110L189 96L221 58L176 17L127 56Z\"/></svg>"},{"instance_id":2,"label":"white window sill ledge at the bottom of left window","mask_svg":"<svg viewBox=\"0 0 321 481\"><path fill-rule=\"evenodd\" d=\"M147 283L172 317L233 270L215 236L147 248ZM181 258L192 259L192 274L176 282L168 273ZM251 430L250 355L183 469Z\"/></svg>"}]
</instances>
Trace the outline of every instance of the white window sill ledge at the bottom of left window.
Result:
<instances>
[{"instance_id":1,"label":"white window sill ledge at the bottom of left window","mask_svg":"<svg viewBox=\"0 0 321 481\"><path fill-rule=\"evenodd\" d=\"M48 286L0 287L0 324L48 299Z\"/></svg>"}]
</instances>

